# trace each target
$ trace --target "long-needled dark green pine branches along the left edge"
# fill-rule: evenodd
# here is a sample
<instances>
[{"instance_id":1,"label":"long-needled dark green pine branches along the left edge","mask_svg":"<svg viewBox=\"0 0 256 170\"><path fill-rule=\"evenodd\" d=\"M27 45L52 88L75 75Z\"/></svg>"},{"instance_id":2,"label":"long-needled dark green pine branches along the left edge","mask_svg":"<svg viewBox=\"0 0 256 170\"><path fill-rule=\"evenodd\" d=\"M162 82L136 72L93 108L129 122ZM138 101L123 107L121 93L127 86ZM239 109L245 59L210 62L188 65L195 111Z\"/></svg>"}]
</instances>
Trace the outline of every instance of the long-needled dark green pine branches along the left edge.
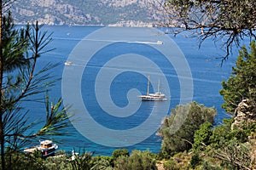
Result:
<instances>
[{"instance_id":1,"label":"long-needled dark green pine branches along the left edge","mask_svg":"<svg viewBox=\"0 0 256 170\"><path fill-rule=\"evenodd\" d=\"M52 50L45 49L52 41L51 34L42 31L42 26L38 26L38 22L16 29L10 13L3 16L1 24L3 50L0 62L0 145L1 164L5 170L13 166L14 160L10 158L15 157L5 148L18 151L38 136L62 135L61 130L70 123L66 114L67 108L63 108L61 99L49 109L47 95L45 125L38 132L29 133L37 122L29 120L30 112L21 106L22 102L32 102L32 96L45 93L56 81L49 71L56 65L45 65L39 71L36 69L37 61L42 54ZM33 98L33 101L42 102L43 99ZM15 158L17 165L20 164L20 156Z\"/></svg>"}]
</instances>

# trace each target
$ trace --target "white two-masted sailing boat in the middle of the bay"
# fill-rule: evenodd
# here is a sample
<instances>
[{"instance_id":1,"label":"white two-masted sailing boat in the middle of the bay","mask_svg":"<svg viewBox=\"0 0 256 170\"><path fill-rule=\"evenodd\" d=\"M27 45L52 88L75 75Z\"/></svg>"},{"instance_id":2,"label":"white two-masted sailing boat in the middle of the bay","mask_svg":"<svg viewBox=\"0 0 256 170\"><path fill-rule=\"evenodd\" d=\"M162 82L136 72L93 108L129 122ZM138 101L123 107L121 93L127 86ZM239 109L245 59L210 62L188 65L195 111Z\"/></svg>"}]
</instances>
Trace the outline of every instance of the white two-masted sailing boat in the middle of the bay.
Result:
<instances>
[{"instance_id":1,"label":"white two-masted sailing boat in the middle of the bay","mask_svg":"<svg viewBox=\"0 0 256 170\"><path fill-rule=\"evenodd\" d=\"M162 94L160 92L160 79L158 82L158 91L154 94L149 94L149 84L150 84L150 77L148 76L148 88L147 88L147 94L146 95L140 95L140 97L143 101L152 101L152 100L167 100L166 95Z\"/></svg>"}]
</instances>

